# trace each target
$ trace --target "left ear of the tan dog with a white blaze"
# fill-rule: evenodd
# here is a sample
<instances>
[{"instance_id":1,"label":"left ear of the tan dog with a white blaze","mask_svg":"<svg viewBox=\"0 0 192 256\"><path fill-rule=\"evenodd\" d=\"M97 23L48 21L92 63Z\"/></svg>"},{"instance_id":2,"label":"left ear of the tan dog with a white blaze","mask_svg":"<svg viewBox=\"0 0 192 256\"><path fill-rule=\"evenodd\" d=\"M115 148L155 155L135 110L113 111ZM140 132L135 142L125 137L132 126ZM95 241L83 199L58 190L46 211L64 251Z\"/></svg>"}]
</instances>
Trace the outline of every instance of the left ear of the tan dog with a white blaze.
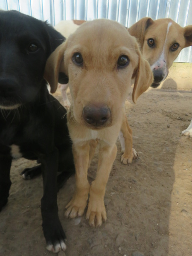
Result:
<instances>
[{"instance_id":1,"label":"left ear of the tan dog with a white blaze","mask_svg":"<svg viewBox=\"0 0 192 256\"><path fill-rule=\"evenodd\" d=\"M134 23L130 28L128 28L128 32L130 35L137 38L137 43L140 44L141 49L143 48L143 40L145 31L149 26L153 23L151 18L145 17Z\"/></svg>"}]
</instances>

